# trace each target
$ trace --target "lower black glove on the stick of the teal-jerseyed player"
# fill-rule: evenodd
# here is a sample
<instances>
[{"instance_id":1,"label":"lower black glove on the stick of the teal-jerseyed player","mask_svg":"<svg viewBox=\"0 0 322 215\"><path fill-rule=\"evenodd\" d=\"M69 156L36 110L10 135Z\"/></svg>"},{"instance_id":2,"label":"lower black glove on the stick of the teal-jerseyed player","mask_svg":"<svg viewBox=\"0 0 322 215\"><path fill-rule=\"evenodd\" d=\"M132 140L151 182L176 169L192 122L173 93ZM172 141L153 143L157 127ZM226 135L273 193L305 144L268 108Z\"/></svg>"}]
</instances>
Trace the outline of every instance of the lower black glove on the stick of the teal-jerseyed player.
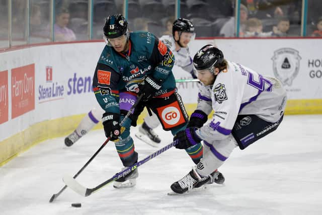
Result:
<instances>
[{"instance_id":1,"label":"lower black glove on the stick of the teal-jerseyed player","mask_svg":"<svg viewBox=\"0 0 322 215\"><path fill-rule=\"evenodd\" d=\"M104 126L105 136L111 137L110 140L116 140L121 133L119 123L120 115L117 113L104 113L102 122Z\"/></svg>"}]
</instances>

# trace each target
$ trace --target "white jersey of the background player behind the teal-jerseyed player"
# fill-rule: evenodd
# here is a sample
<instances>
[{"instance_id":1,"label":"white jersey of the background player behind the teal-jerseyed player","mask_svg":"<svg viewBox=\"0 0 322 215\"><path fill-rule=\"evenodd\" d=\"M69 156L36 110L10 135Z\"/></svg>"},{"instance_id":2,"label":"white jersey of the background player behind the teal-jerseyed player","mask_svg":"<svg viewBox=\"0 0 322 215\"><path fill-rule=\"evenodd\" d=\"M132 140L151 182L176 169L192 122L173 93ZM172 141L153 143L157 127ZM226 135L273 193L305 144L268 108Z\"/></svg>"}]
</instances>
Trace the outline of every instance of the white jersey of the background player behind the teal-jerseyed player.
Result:
<instances>
[{"instance_id":1,"label":"white jersey of the background player behind the teal-jerseyed player","mask_svg":"<svg viewBox=\"0 0 322 215\"><path fill-rule=\"evenodd\" d=\"M180 48L176 51L176 42L173 36L164 35L160 37L160 40L168 46L168 48L173 52L175 55L175 65L182 67L188 73L193 73L193 64L192 58L190 56L189 48Z\"/></svg>"}]
</instances>

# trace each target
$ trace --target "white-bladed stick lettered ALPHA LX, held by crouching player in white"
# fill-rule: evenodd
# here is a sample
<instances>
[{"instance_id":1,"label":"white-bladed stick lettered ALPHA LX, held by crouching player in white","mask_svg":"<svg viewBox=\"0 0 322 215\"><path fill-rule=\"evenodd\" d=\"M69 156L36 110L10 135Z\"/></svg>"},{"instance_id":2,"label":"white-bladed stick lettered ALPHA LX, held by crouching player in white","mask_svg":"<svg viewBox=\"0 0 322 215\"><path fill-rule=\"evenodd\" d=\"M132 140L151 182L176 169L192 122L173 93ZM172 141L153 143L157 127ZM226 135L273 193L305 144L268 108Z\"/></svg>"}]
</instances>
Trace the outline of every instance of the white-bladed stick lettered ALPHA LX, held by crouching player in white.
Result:
<instances>
[{"instance_id":1,"label":"white-bladed stick lettered ALPHA LX, held by crouching player in white","mask_svg":"<svg viewBox=\"0 0 322 215\"><path fill-rule=\"evenodd\" d=\"M178 140L171 142L171 144L165 146L162 149L157 150L156 152L154 152L151 155L147 156L143 160L133 164L132 166L126 168L125 170L116 173L112 178L108 179L107 181L104 181L103 183L99 184L98 186L96 186L94 188L86 188L83 185L79 184L74 178L72 178L70 176L64 176L62 180L70 189L72 189L73 191L75 191L79 195L89 196L92 193L97 192L99 189L103 188L104 186L108 185L109 183L117 180L118 178L126 176L132 170L135 170L136 168L138 168L142 164L144 164L147 161L151 160L152 158L158 156L159 154L167 151L171 147L176 146L177 144L178 144Z\"/></svg>"}]
</instances>

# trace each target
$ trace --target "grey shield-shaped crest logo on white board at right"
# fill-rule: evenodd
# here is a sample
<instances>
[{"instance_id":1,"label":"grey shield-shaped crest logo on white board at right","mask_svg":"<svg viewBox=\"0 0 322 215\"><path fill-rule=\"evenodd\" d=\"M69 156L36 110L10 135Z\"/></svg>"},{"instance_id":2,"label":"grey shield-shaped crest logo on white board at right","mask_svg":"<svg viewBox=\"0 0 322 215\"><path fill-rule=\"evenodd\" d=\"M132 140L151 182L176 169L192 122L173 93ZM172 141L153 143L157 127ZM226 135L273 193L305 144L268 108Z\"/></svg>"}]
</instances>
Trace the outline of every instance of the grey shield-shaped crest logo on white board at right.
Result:
<instances>
[{"instance_id":1,"label":"grey shield-shaped crest logo on white board at right","mask_svg":"<svg viewBox=\"0 0 322 215\"><path fill-rule=\"evenodd\" d=\"M274 75L283 85L291 86L296 78L300 60L302 59L298 51L293 48L280 48L274 51L273 60Z\"/></svg>"}]
</instances>

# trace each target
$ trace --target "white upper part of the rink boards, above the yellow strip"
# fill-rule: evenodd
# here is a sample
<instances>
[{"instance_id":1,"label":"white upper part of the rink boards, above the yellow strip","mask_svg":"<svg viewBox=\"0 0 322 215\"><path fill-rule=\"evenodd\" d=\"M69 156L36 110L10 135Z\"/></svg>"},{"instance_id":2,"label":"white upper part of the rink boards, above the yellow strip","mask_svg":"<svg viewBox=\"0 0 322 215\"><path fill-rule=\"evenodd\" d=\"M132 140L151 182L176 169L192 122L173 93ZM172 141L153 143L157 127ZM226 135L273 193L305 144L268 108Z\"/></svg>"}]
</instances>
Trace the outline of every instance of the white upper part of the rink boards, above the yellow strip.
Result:
<instances>
[{"instance_id":1,"label":"white upper part of the rink boards, above the yellow strip","mask_svg":"<svg viewBox=\"0 0 322 215\"><path fill-rule=\"evenodd\" d=\"M278 49L294 49L298 54L287 52L279 55L279 63L287 57L289 68L277 69L286 80L285 87L289 99L321 99L322 85L320 72L322 59L320 50L322 43L317 39L216 39L195 40L191 42L191 55L201 46L215 43L222 49L224 56L231 61L241 63L255 69L263 75L274 75L274 52ZM92 77L104 47L104 42L82 42L35 46L0 53L0 71L8 70L8 103L9 119L0 124L0 141L16 134L37 122L56 119L60 117L87 113L97 106L92 92ZM298 61L297 61L298 60ZM278 60L277 60L278 61ZM29 64L35 65L35 108L12 119L11 107L11 73L12 69ZM46 67L52 68L52 80L46 81ZM281 65L279 65L281 66ZM292 70L294 67L298 70ZM310 71L313 70L315 77ZM283 73L285 72L285 73ZM176 79L191 79L190 74L179 67L174 68ZM295 75L294 75L295 74ZM1 74L0 74L1 75ZM288 78L289 77L289 78ZM287 79L288 78L288 79ZM90 80L84 92L85 80ZM87 83L87 84L88 84ZM50 88L59 86L63 92L58 97L40 98L39 87ZM1 87L1 86L0 86ZM186 104L196 103L196 83L181 83L177 85L178 91ZM89 91L89 88L91 89ZM72 90L72 91L71 91Z\"/></svg>"}]
</instances>

